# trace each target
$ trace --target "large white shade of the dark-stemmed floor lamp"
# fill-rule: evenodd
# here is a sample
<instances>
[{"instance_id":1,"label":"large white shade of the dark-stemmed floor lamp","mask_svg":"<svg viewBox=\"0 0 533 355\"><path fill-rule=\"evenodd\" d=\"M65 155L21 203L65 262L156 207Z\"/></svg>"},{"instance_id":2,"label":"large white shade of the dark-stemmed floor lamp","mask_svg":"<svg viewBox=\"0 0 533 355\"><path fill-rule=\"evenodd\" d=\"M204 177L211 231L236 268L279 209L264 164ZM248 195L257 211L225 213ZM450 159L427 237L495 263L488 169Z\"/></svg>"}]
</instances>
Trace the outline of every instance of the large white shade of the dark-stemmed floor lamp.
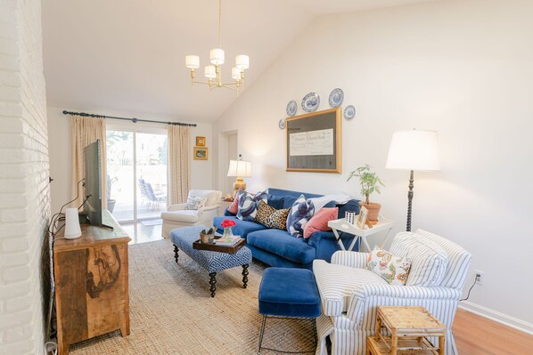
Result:
<instances>
[{"instance_id":1,"label":"large white shade of the dark-stemmed floor lamp","mask_svg":"<svg viewBox=\"0 0 533 355\"><path fill-rule=\"evenodd\" d=\"M440 170L437 132L401 131L392 134L387 169Z\"/></svg>"}]
</instances>

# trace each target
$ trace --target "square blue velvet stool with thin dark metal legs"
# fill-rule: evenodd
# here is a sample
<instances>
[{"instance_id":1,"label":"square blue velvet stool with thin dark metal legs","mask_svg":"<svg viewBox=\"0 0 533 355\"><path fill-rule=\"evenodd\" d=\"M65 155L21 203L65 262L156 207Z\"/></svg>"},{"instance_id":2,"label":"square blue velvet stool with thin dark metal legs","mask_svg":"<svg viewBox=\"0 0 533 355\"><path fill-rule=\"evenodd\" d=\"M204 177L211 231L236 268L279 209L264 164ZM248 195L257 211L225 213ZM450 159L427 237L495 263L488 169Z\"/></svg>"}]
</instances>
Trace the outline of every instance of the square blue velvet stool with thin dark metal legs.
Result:
<instances>
[{"instance_id":1,"label":"square blue velvet stool with thin dark metal legs","mask_svg":"<svg viewBox=\"0 0 533 355\"><path fill-rule=\"evenodd\" d=\"M316 317L320 316L320 294L311 270L271 267L265 270L259 286L259 313L263 323L259 332L258 354L261 349L284 353L315 353ZM281 351L262 348L266 319L301 319L313 322L315 349L309 351Z\"/></svg>"}]
</instances>

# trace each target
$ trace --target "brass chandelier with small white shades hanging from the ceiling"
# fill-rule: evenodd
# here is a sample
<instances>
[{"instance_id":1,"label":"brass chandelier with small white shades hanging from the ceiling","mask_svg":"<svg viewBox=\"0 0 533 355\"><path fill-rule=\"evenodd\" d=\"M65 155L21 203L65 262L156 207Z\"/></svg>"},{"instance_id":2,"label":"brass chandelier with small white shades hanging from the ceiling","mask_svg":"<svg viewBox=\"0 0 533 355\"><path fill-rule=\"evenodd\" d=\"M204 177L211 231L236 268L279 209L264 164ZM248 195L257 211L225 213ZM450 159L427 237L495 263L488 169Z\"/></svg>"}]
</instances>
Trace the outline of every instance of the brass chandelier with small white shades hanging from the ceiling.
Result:
<instances>
[{"instance_id":1,"label":"brass chandelier with small white shades hanging from the ceiling","mask_svg":"<svg viewBox=\"0 0 533 355\"><path fill-rule=\"evenodd\" d=\"M186 55L185 67L191 69L191 85L209 85L209 92L217 87L225 87L239 92L244 83L244 70L250 67L248 55L240 54L235 57L235 66L232 68L233 83L222 83L220 78L220 66L224 64L224 50L220 45L220 23L222 18L222 0L218 0L218 47L209 52L209 60L212 65L204 68L204 77L208 78L207 83L194 80L194 69L200 68L200 57L198 55Z\"/></svg>"}]
</instances>

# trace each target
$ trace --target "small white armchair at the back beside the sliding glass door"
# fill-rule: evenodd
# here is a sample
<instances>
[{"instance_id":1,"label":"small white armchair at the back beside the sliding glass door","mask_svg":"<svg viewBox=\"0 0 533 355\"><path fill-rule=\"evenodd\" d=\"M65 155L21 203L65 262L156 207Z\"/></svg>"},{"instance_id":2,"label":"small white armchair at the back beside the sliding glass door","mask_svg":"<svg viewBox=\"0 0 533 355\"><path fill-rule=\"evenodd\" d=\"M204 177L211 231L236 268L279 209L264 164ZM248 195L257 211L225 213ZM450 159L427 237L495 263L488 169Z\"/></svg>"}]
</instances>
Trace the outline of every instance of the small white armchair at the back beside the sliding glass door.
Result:
<instances>
[{"instance_id":1,"label":"small white armchair at the back beside the sliding glass door","mask_svg":"<svg viewBox=\"0 0 533 355\"><path fill-rule=\"evenodd\" d=\"M197 210L186 209L186 204L170 205L168 211L161 214L163 238L170 238L170 230L199 224L210 226L218 214L222 192L217 190L190 190L189 198L206 198L205 206Z\"/></svg>"}]
</instances>

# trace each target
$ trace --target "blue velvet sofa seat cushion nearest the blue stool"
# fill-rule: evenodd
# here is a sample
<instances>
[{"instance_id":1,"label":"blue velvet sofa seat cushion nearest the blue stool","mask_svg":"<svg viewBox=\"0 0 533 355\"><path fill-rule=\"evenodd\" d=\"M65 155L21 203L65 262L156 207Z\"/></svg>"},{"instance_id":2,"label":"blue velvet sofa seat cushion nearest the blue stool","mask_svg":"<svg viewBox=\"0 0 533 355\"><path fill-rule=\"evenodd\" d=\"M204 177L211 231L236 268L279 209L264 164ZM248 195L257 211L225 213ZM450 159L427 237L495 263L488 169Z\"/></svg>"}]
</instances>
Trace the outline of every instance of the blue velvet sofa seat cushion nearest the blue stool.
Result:
<instances>
[{"instance_id":1,"label":"blue velvet sofa seat cushion nearest the blue stool","mask_svg":"<svg viewBox=\"0 0 533 355\"><path fill-rule=\"evenodd\" d=\"M291 237L287 230L253 231L248 234L246 243L292 262L306 264L316 259L315 248L304 238Z\"/></svg>"}]
</instances>

